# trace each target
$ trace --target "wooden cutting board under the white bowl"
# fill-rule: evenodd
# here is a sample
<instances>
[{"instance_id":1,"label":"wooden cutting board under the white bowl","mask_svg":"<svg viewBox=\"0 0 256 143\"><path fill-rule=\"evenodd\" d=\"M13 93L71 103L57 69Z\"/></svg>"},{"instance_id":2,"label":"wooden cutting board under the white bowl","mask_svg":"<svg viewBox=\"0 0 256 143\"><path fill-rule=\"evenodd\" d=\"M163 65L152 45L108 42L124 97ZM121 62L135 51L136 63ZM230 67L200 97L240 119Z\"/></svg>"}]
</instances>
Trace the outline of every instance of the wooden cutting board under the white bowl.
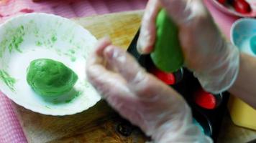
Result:
<instances>
[{"instance_id":1,"label":"wooden cutting board under the white bowl","mask_svg":"<svg viewBox=\"0 0 256 143\"><path fill-rule=\"evenodd\" d=\"M110 36L115 45L127 49L139 29L142 13L132 11L73 20L97 39ZM28 142L145 142L140 129L119 117L104 101L85 112L64 117L46 116L15 107Z\"/></svg>"}]
</instances>

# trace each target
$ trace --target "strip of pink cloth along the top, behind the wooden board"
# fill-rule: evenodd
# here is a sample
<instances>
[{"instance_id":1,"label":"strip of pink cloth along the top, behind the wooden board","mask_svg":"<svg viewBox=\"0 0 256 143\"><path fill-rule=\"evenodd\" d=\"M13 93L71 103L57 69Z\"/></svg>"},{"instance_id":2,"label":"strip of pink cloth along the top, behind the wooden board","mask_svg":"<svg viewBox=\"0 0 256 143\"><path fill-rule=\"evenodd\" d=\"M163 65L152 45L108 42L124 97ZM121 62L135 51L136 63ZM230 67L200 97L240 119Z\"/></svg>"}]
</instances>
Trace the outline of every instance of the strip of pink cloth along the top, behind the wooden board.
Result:
<instances>
[{"instance_id":1,"label":"strip of pink cloth along the top, behind the wooden board","mask_svg":"<svg viewBox=\"0 0 256 143\"><path fill-rule=\"evenodd\" d=\"M144 9L147 0L0 0L0 22L29 12L57 14L67 18Z\"/></svg>"}]
</instances>

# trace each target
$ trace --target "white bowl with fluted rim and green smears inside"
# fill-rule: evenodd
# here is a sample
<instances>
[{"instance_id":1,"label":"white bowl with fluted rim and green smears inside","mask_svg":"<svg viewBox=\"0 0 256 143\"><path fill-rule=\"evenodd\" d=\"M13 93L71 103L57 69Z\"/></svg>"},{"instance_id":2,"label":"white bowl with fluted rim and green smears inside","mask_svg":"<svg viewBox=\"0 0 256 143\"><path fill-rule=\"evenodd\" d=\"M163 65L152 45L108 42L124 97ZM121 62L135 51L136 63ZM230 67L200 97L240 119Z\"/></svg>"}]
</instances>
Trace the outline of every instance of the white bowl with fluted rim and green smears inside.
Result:
<instances>
[{"instance_id":1,"label":"white bowl with fluted rim and green smears inside","mask_svg":"<svg viewBox=\"0 0 256 143\"><path fill-rule=\"evenodd\" d=\"M41 114L83 112L101 98L86 80L86 59L96 38L82 26L52 14L25 14L0 25L0 89L15 103ZM78 74L73 90L60 97L37 95L27 84L33 59L63 62Z\"/></svg>"}]
</instances>

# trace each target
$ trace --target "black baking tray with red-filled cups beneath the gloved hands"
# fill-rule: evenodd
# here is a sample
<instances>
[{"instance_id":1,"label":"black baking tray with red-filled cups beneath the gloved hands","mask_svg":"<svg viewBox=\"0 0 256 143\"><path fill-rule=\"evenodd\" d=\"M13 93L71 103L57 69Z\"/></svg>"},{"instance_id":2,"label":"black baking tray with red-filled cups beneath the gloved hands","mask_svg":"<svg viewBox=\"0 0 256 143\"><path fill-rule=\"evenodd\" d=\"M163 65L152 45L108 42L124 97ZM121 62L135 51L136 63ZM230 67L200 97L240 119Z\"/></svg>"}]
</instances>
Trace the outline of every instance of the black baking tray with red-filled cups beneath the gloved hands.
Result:
<instances>
[{"instance_id":1,"label":"black baking tray with red-filled cups beneath the gloved hands","mask_svg":"<svg viewBox=\"0 0 256 143\"><path fill-rule=\"evenodd\" d=\"M150 66L152 66L150 56L139 54L136 48L139 32L140 31L138 31L134 36L134 39L129 45L127 51L132 54L135 59L137 59L141 66L148 70ZM196 119L198 123L201 124L201 127L204 128L204 133L211 137L214 142L216 142L219 130L221 129L222 119L224 119L224 114L227 113L229 93L224 92L221 94L215 94L214 96L218 102L217 107L214 109L205 109L198 106L198 104L193 101L193 93L196 91L196 89L201 88L198 79L193 77L193 73L183 67L173 74L175 75L175 78L178 79L178 82L170 85L170 88L178 91L184 97L184 99L186 99L192 109L193 118Z\"/></svg>"}]
</instances>

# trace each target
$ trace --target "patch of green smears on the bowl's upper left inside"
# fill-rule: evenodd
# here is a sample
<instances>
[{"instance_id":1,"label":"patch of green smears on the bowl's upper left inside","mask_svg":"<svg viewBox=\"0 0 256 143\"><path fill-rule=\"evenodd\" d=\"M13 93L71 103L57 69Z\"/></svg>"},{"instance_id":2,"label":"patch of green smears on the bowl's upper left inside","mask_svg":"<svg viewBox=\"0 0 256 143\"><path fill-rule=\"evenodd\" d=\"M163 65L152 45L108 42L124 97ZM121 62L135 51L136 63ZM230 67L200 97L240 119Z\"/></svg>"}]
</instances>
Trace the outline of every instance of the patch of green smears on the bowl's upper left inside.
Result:
<instances>
[{"instance_id":1,"label":"patch of green smears on the bowl's upper left inside","mask_svg":"<svg viewBox=\"0 0 256 143\"><path fill-rule=\"evenodd\" d=\"M9 52L19 51L20 44L22 44L24 36L24 26L19 26L16 29L7 29L4 36L4 39L0 42L0 57L3 56L5 49L9 49Z\"/></svg>"}]
</instances>

